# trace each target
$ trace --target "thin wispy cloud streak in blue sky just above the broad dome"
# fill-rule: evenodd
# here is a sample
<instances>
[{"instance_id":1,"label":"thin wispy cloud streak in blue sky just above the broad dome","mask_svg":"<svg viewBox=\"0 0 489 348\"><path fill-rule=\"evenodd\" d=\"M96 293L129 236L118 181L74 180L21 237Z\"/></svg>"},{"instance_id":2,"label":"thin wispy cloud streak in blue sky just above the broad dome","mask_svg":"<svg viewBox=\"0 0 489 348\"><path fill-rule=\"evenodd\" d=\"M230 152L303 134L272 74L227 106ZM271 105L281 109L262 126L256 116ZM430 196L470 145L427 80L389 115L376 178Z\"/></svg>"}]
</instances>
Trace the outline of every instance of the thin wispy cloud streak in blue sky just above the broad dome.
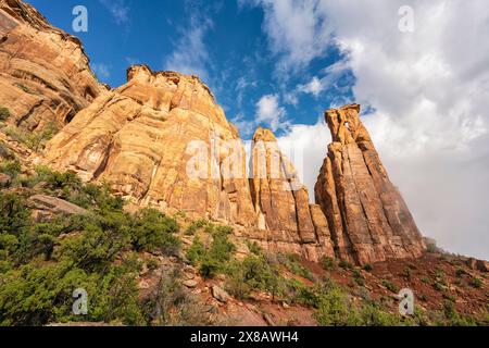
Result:
<instances>
[{"instance_id":1,"label":"thin wispy cloud streak in blue sky just above the broad dome","mask_svg":"<svg viewBox=\"0 0 489 348\"><path fill-rule=\"evenodd\" d=\"M180 38L175 42L174 51L166 58L164 69L188 75L198 75L209 79L206 63L209 51L204 44L204 35L213 27L210 18L191 15L190 24L179 28Z\"/></svg>"}]
</instances>

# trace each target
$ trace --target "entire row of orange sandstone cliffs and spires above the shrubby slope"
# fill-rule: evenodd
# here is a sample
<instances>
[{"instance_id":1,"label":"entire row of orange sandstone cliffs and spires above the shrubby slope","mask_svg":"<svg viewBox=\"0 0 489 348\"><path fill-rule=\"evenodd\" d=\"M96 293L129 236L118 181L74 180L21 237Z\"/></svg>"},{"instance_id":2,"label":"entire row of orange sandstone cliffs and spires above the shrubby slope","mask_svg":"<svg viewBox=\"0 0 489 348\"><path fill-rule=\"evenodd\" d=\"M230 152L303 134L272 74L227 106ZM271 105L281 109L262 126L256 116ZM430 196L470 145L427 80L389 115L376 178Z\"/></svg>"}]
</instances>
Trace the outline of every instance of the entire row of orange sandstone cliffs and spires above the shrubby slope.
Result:
<instances>
[{"instance_id":1,"label":"entire row of orange sandstone cliffs and spires above the shrubby slope","mask_svg":"<svg viewBox=\"0 0 489 348\"><path fill-rule=\"evenodd\" d=\"M356 104L326 112L333 142L311 204L271 130L255 132L248 167L237 129L199 77L136 65L109 89L77 38L20 0L0 0L0 105L24 130L61 129L34 162L106 183L131 209L185 211L311 261L364 264L425 250Z\"/></svg>"}]
</instances>

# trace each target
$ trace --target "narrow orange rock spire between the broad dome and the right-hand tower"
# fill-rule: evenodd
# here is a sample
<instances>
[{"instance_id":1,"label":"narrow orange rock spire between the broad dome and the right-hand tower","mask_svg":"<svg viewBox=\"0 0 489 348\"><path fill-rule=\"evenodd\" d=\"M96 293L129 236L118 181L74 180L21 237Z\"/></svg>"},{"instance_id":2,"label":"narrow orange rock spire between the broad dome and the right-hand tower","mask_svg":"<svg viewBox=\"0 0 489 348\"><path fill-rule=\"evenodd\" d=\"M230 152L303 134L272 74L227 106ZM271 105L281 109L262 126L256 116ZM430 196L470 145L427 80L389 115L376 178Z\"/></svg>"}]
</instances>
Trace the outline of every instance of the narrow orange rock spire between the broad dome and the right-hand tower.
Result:
<instances>
[{"instance_id":1,"label":"narrow orange rock spire between the broad dome and the right-hand tower","mask_svg":"<svg viewBox=\"0 0 489 348\"><path fill-rule=\"evenodd\" d=\"M253 137L250 186L259 231L249 237L271 251L312 261L334 256L326 217L318 206L310 206L308 189L268 129L259 128Z\"/></svg>"}]
</instances>

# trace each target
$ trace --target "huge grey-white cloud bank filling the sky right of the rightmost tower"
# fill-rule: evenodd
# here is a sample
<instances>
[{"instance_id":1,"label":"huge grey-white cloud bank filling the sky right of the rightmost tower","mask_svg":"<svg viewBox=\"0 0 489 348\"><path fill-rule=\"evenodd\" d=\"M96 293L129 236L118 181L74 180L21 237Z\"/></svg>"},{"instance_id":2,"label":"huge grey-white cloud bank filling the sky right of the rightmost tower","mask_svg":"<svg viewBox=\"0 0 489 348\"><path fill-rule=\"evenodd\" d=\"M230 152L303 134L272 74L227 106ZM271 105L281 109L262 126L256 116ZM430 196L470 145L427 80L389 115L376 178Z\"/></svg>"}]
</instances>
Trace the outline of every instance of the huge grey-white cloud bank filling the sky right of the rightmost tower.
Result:
<instances>
[{"instance_id":1,"label":"huge grey-white cloud bank filling the sky right of the rightmost tower","mask_svg":"<svg viewBox=\"0 0 489 348\"><path fill-rule=\"evenodd\" d=\"M275 38L293 37L293 24L310 16L310 37L331 37L304 48L302 60L291 47L317 42L285 39L285 62L306 64L325 45L337 46L355 76L356 101L371 109L364 122L421 229L450 251L489 259L487 1L316 0L297 15L281 0L255 2L273 50ZM398 27L405 4L414 10L413 33Z\"/></svg>"}]
</instances>

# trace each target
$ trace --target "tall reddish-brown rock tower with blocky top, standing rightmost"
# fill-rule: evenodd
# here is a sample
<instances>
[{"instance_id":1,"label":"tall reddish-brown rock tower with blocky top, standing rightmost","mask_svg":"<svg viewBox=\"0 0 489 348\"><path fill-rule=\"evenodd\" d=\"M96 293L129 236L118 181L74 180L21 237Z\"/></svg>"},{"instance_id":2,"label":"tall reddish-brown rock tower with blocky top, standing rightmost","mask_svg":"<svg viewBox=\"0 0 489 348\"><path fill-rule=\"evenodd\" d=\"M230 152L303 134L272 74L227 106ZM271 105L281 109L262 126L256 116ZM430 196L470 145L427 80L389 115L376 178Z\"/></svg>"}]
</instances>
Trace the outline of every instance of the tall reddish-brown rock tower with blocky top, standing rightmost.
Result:
<instances>
[{"instance_id":1,"label":"tall reddish-brown rock tower with blocky top, standing rightmost","mask_svg":"<svg viewBox=\"0 0 489 348\"><path fill-rule=\"evenodd\" d=\"M360 105L326 112L333 142L315 186L336 254L355 263L419 257L425 246L360 121Z\"/></svg>"}]
</instances>

